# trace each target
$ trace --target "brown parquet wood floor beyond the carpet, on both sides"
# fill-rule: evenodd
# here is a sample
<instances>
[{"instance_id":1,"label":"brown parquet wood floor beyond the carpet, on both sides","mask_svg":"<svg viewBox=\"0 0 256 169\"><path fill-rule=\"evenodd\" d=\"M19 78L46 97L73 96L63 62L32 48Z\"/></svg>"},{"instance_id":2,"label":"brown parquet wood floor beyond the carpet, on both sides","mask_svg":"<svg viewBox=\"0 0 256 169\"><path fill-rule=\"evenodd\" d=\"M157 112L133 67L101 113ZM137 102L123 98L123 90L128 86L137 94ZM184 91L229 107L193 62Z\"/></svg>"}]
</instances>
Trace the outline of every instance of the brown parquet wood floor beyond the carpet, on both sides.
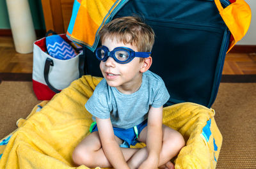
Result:
<instances>
[{"instance_id":1,"label":"brown parquet wood floor beyond the carpet, on both sides","mask_svg":"<svg viewBox=\"0 0 256 169\"><path fill-rule=\"evenodd\" d=\"M12 37L0 37L0 73L32 73L33 54L15 51ZM227 54L223 75L256 75L256 54Z\"/></svg>"}]
</instances>

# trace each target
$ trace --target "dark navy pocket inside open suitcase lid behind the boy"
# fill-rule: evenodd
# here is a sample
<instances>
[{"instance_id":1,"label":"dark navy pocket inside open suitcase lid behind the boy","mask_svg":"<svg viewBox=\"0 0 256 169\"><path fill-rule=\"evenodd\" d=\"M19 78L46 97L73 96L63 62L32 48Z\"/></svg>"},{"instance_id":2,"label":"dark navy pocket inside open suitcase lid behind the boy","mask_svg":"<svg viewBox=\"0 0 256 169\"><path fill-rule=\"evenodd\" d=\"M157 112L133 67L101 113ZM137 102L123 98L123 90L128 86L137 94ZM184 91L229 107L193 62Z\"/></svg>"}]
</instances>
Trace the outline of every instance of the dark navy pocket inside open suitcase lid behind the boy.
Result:
<instances>
[{"instance_id":1,"label":"dark navy pocket inside open suitcase lid behind the boy","mask_svg":"<svg viewBox=\"0 0 256 169\"><path fill-rule=\"evenodd\" d=\"M156 33L150 70L170 92L169 105L190 101L211 107L227 52L226 27L148 20Z\"/></svg>"}]
</instances>

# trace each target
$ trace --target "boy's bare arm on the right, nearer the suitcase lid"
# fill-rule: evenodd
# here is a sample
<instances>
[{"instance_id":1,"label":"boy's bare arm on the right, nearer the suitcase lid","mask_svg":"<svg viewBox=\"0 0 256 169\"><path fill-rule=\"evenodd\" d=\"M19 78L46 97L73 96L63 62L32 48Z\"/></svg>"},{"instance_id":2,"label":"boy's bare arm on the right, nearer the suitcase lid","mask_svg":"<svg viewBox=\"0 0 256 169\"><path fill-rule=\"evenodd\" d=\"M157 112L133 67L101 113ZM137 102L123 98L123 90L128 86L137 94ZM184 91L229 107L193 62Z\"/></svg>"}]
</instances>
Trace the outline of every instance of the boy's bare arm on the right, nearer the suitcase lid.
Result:
<instances>
[{"instance_id":1,"label":"boy's bare arm on the right, nearer the suitcase lid","mask_svg":"<svg viewBox=\"0 0 256 169\"><path fill-rule=\"evenodd\" d=\"M147 149L148 158L140 168L157 168L163 140L163 107L151 107L148 112Z\"/></svg>"}]
</instances>

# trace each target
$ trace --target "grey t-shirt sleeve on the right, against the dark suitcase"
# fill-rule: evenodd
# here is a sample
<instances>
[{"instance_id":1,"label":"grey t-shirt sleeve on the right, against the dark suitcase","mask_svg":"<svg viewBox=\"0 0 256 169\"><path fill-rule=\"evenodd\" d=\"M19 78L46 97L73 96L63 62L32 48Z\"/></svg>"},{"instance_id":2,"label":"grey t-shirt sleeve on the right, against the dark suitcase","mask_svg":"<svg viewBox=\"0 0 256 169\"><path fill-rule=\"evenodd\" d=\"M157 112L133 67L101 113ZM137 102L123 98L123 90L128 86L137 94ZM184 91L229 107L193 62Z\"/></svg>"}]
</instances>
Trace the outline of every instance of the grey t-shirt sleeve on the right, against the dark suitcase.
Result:
<instances>
[{"instance_id":1,"label":"grey t-shirt sleeve on the right, against the dark suitcase","mask_svg":"<svg viewBox=\"0 0 256 169\"><path fill-rule=\"evenodd\" d=\"M161 79L157 82L156 85L155 97L152 103L152 107L158 108L163 106L168 101L169 98L170 94L166 89L164 81Z\"/></svg>"}]
</instances>

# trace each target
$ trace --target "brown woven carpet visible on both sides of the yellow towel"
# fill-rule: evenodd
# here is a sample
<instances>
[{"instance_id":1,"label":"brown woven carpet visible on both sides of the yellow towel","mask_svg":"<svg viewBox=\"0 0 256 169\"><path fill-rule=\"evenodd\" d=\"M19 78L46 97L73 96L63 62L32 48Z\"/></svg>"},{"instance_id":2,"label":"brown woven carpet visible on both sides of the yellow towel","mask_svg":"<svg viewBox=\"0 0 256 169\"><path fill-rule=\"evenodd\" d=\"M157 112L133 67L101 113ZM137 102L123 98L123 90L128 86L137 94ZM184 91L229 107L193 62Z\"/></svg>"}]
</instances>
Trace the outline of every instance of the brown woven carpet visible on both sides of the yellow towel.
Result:
<instances>
[{"instance_id":1,"label":"brown woven carpet visible on both sides of the yellow towel","mask_svg":"<svg viewBox=\"0 0 256 169\"><path fill-rule=\"evenodd\" d=\"M25 118L40 103L33 94L32 82L0 84L0 139L17 127L15 122ZM212 106L223 135L218 169L256 168L256 83L221 83Z\"/></svg>"}]
</instances>

